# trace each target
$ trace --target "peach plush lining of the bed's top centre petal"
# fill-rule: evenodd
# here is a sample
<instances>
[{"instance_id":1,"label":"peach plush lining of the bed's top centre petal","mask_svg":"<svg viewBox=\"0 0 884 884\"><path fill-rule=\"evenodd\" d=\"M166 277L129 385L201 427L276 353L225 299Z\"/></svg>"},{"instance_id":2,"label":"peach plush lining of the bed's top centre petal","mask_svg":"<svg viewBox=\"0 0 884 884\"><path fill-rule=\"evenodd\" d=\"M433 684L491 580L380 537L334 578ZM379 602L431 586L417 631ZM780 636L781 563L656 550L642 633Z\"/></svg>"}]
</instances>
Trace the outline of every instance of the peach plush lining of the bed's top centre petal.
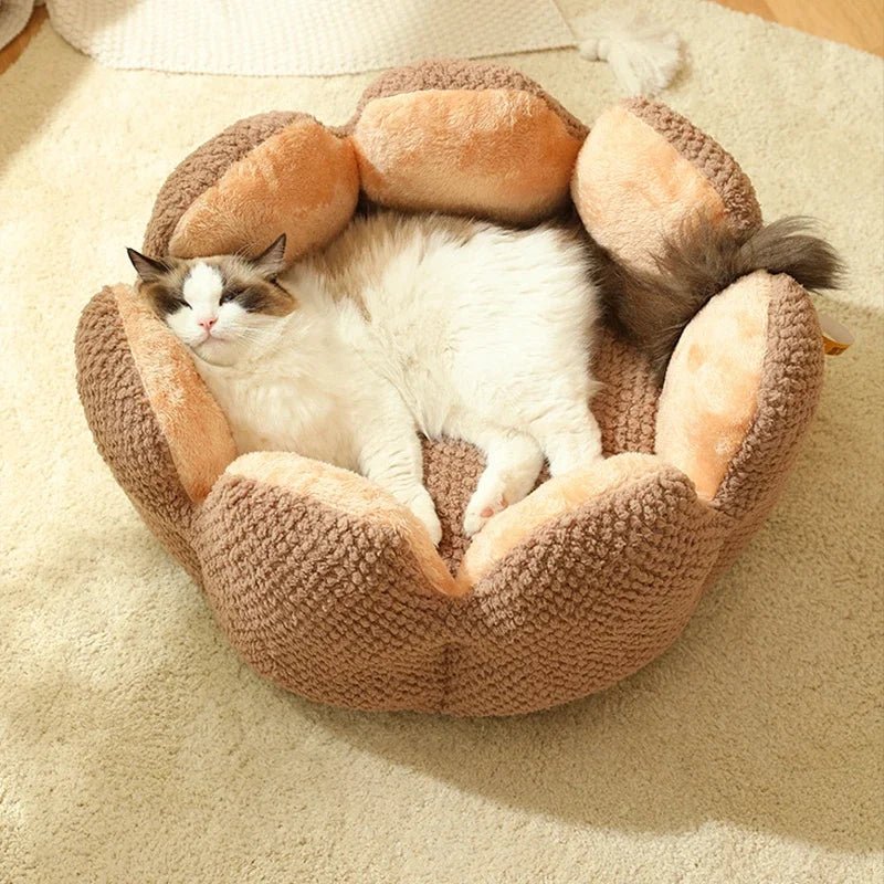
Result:
<instances>
[{"instance_id":1,"label":"peach plush lining of the bed's top centre petal","mask_svg":"<svg viewBox=\"0 0 884 884\"><path fill-rule=\"evenodd\" d=\"M518 90L428 90L370 101L352 140L369 198L393 208L538 221L562 206L580 139Z\"/></svg>"}]
</instances>

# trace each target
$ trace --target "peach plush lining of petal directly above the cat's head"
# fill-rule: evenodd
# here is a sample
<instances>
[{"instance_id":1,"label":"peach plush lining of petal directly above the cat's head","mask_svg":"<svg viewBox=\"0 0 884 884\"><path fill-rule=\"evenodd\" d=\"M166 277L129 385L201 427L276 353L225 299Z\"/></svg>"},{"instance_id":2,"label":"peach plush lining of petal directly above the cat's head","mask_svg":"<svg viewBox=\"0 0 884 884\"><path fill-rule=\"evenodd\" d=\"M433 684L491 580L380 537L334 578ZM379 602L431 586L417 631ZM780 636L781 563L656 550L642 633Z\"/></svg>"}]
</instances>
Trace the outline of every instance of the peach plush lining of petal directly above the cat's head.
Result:
<instances>
[{"instance_id":1,"label":"peach plush lining of petal directly above the cat's head","mask_svg":"<svg viewBox=\"0 0 884 884\"><path fill-rule=\"evenodd\" d=\"M309 117L296 119L234 162L181 215L169 251L179 257L260 252L286 234L286 260L330 242L359 197L352 146Z\"/></svg>"}]
</instances>

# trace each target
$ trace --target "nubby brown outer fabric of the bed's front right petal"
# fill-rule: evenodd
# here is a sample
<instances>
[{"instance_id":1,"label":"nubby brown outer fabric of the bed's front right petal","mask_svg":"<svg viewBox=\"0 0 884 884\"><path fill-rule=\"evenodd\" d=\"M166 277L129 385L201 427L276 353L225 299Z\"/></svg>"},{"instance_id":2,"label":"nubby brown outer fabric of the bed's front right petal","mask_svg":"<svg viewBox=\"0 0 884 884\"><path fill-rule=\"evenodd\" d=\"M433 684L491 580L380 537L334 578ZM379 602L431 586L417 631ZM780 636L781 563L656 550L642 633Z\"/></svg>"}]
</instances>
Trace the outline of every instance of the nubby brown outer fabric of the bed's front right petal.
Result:
<instances>
[{"instance_id":1,"label":"nubby brown outer fabric of the bed's front right petal","mask_svg":"<svg viewBox=\"0 0 884 884\"><path fill-rule=\"evenodd\" d=\"M687 623L716 524L667 467L547 525L464 600L445 711L529 712L643 666Z\"/></svg>"}]
</instances>

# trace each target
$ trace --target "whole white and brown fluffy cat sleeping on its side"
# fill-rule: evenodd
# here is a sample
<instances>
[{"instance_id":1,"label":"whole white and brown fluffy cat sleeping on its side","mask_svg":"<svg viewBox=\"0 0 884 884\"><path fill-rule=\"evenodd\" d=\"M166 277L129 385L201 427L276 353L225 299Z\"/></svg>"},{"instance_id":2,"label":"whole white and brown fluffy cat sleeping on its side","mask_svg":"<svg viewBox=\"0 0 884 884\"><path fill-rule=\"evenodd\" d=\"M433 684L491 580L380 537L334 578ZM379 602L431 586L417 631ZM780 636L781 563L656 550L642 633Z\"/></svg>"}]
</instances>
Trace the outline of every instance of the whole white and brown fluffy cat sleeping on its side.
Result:
<instances>
[{"instance_id":1,"label":"whole white and brown fluffy cat sleeping on its side","mask_svg":"<svg viewBox=\"0 0 884 884\"><path fill-rule=\"evenodd\" d=\"M831 284L831 250L785 223L756 234L749 251L687 232L644 280L552 223L511 230L394 212L355 219L285 272L285 235L255 259L152 259L131 249L129 257L140 291L193 354L241 453L294 451L359 472L438 544L419 433L466 440L485 454L463 524L475 534L530 492L545 459L555 476L601 457L589 410L601 296L611 320L665 365L703 301L744 273L779 263L800 275L803 260Z\"/></svg>"}]
</instances>

